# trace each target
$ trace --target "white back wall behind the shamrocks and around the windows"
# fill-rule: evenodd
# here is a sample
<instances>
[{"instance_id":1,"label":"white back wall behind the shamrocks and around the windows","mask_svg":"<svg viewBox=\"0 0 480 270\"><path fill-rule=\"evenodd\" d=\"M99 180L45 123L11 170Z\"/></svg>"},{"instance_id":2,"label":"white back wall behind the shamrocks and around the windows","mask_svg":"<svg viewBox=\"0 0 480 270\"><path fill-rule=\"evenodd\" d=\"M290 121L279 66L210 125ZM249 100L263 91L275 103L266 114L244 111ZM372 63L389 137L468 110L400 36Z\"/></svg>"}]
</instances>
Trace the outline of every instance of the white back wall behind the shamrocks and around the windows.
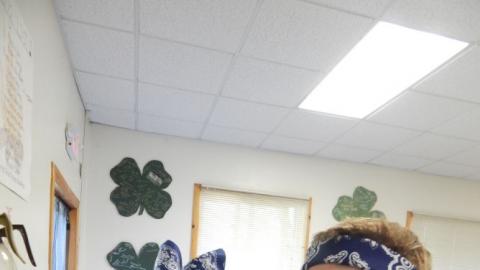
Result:
<instances>
[{"instance_id":1,"label":"white back wall behind the shamrocks and around the windows","mask_svg":"<svg viewBox=\"0 0 480 270\"><path fill-rule=\"evenodd\" d=\"M328 161L92 125L86 156L81 270L110 269L105 255L120 241L137 251L149 241L171 239L188 257L193 183L296 197L313 197L312 233L335 223L341 195L363 185L377 192L376 209L404 223L407 210L480 219L480 183L369 165ZM109 171L124 157L140 167L164 162L173 182L173 206L164 219L122 217L109 201ZM84 209L85 210L85 209ZM228 256L228 255L227 255Z\"/></svg>"}]
</instances>

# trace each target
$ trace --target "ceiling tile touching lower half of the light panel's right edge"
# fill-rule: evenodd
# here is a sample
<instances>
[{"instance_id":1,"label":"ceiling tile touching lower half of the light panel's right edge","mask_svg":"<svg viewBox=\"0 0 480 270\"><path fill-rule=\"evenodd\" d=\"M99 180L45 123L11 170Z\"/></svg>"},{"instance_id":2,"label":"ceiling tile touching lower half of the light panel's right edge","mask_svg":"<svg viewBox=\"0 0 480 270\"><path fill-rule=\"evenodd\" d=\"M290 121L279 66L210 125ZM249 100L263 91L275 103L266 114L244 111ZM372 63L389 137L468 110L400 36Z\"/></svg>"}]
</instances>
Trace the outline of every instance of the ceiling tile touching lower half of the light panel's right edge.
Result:
<instances>
[{"instance_id":1,"label":"ceiling tile touching lower half of the light panel's right edge","mask_svg":"<svg viewBox=\"0 0 480 270\"><path fill-rule=\"evenodd\" d=\"M407 91L369 120L426 131L474 108L470 103Z\"/></svg>"}]
</instances>

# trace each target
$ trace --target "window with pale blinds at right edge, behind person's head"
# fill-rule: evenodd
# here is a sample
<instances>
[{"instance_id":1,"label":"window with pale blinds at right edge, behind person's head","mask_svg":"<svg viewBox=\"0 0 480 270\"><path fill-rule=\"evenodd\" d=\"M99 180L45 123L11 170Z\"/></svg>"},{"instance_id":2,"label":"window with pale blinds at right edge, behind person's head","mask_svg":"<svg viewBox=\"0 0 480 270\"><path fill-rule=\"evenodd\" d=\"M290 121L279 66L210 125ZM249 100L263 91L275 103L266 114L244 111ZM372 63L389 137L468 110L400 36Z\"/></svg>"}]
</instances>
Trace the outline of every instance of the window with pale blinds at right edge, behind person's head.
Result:
<instances>
[{"instance_id":1,"label":"window with pale blinds at right edge, behind person's head","mask_svg":"<svg viewBox=\"0 0 480 270\"><path fill-rule=\"evenodd\" d=\"M432 253L432 269L478 269L480 222L414 213L411 229Z\"/></svg>"}]
</instances>

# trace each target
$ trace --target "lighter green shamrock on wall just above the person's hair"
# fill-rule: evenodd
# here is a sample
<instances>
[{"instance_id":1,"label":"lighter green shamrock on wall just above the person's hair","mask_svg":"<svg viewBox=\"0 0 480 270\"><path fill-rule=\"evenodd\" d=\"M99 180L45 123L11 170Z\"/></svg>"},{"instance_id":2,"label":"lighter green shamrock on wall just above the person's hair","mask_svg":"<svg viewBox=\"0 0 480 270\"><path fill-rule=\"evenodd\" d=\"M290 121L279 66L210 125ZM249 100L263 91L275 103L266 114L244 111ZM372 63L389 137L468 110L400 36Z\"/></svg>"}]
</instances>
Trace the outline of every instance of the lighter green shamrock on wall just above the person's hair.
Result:
<instances>
[{"instance_id":1,"label":"lighter green shamrock on wall just above the person's hair","mask_svg":"<svg viewBox=\"0 0 480 270\"><path fill-rule=\"evenodd\" d=\"M372 211L373 206L377 202L377 194L364 187L357 187L353 192L353 197L341 196L332 210L333 217L337 221L346 218L385 218L385 214L381 211Z\"/></svg>"}]
</instances>

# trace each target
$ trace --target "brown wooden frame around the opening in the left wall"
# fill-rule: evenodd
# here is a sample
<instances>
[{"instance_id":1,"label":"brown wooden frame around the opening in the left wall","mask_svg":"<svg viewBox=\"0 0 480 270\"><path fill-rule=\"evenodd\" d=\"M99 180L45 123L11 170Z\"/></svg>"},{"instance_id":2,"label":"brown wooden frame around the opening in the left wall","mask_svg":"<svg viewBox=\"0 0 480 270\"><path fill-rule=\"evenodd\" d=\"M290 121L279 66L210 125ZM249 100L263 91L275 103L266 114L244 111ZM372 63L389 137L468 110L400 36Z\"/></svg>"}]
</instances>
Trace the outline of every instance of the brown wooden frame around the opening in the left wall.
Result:
<instances>
[{"instance_id":1,"label":"brown wooden frame around the opening in the left wall","mask_svg":"<svg viewBox=\"0 0 480 270\"><path fill-rule=\"evenodd\" d=\"M54 212L55 212L55 196L62 199L70 208L69 220L69 246L68 246L68 262L67 270L77 269L77 254L78 254L78 224L79 224L79 207L80 201L75 193L68 186L67 181L63 177L62 173L55 165L51 163L51 176L50 176L50 230L49 230L49 244L48 244L48 265L49 269L52 269L52 251L53 251L53 234L54 234Z\"/></svg>"}]
</instances>

